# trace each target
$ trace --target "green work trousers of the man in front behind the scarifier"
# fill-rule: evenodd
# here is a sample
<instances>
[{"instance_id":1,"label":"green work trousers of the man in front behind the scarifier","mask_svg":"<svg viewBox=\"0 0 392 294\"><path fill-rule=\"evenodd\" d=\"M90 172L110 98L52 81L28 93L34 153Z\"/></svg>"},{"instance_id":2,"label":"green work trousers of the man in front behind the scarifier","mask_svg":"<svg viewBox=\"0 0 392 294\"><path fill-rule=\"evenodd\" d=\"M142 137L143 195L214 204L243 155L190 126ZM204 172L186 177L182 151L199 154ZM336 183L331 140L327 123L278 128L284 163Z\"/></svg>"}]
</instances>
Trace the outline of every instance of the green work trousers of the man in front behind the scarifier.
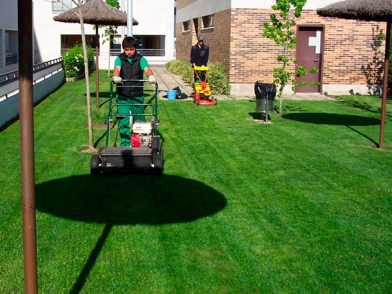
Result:
<instances>
[{"instance_id":1,"label":"green work trousers of the man in front behind the scarifier","mask_svg":"<svg viewBox=\"0 0 392 294\"><path fill-rule=\"evenodd\" d=\"M125 96L117 96L116 101L118 104L117 106L117 113L118 114L144 114L144 106L137 105L144 103L144 96L143 97L125 97ZM135 121L146 121L145 116L133 116L133 117L124 117L119 121L119 133L121 138L121 146L126 147L131 145L131 130L129 126L130 120Z\"/></svg>"}]
</instances>

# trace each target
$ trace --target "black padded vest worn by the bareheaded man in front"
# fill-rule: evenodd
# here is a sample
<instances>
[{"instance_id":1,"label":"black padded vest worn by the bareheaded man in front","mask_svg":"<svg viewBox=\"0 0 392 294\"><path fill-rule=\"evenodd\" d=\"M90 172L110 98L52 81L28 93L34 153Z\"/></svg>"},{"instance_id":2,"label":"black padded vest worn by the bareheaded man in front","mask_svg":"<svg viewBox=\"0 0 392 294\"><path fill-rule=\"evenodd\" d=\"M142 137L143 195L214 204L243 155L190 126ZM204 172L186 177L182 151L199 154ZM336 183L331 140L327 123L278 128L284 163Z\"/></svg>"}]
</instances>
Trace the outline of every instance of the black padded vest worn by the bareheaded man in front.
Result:
<instances>
[{"instance_id":1,"label":"black padded vest worn by the bareheaded man in front","mask_svg":"<svg viewBox=\"0 0 392 294\"><path fill-rule=\"evenodd\" d=\"M143 71L140 68L140 58L142 55L136 53L132 57L132 62L129 62L125 53L119 55L121 60L120 77L127 79L143 79ZM122 96L143 96L143 82L123 82L124 86L137 87L117 87L117 94Z\"/></svg>"}]
</instances>

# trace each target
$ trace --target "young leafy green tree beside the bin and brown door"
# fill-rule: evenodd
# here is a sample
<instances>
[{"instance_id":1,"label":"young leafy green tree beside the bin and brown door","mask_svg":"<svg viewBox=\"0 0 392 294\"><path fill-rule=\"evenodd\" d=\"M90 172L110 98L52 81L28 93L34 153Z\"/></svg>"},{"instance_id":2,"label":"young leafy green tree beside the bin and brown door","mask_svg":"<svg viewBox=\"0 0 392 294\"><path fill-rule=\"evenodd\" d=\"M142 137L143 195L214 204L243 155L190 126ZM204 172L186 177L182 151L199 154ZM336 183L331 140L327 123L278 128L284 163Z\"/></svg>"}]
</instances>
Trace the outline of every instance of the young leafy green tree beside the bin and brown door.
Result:
<instances>
[{"instance_id":1,"label":"young leafy green tree beside the bin and brown door","mask_svg":"<svg viewBox=\"0 0 392 294\"><path fill-rule=\"evenodd\" d=\"M289 57L289 51L295 48L295 44L298 42L294 38L295 20L301 17L302 8L306 3L306 0L275 0L276 4L272 5L271 8L279 11L280 17L276 17L274 13L270 15L270 23L265 22L263 36L267 37L275 42L277 46L283 48L283 55L278 55L276 60L281 63L279 68L273 69L273 83L279 84L278 98L279 98L279 114L282 114L282 100L284 87L291 81L292 89L295 87L295 77L306 75L306 73L316 73L317 68L307 70L302 66L296 65L296 60ZM296 73L288 70L290 66L296 66ZM318 85L319 82L309 83L311 86ZM307 83L301 83L298 86L303 87Z\"/></svg>"}]
</instances>

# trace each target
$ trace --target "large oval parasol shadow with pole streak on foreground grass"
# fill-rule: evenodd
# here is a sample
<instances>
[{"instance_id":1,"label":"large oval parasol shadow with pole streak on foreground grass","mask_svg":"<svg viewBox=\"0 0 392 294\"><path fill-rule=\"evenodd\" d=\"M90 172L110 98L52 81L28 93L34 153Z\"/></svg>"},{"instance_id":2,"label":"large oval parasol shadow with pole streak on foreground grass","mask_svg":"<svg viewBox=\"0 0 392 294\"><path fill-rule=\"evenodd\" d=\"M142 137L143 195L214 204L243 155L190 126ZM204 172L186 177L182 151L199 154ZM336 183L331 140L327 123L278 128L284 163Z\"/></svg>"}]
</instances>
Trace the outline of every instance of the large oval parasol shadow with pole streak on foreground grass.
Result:
<instances>
[{"instance_id":1,"label":"large oval parasol shadow with pole streak on foreground grass","mask_svg":"<svg viewBox=\"0 0 392 294\"><path fill-rule=\"evenodd\" d=\"M79 293L113 225L184 223L212 216L227 203L193 179L147 174L77 175L36 185L36 208L74 221L105 223L70 293Z\"/></svg>"}]
</instances>

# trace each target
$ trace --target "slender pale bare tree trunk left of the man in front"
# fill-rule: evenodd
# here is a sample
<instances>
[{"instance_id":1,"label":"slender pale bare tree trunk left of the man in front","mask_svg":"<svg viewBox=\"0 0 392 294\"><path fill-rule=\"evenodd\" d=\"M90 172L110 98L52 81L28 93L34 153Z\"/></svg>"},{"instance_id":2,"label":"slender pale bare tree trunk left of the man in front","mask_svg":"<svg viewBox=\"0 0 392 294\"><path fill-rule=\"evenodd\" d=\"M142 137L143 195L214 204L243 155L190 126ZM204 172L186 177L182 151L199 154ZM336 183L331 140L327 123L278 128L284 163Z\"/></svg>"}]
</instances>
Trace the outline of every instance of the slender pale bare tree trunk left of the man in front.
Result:
<instances>
[{"instance_id":1,"label":"slender pale bare tree trunk left of the man in front","mask_svg":"<svg viewBox=\"0 0 392 294\"><path fill-rule=\"evenodd\" d=\"M82 46L83 46L83 56L84 56L84 75L86 78L86 96L87 96L87 121L89 128L89 147L90 149L94 148L94 137L93 137L93 121L91 118L91 98L90 98L90 79L89 79L89 65L87 59L87 47L86 47L86 36L84 34L84 24L83 24L83 15L82 15L82 4L80 0L77 0L77 6L79 11L79 20L80 20L80 30L82 34Z\"/></svg>"}]
</instances>

